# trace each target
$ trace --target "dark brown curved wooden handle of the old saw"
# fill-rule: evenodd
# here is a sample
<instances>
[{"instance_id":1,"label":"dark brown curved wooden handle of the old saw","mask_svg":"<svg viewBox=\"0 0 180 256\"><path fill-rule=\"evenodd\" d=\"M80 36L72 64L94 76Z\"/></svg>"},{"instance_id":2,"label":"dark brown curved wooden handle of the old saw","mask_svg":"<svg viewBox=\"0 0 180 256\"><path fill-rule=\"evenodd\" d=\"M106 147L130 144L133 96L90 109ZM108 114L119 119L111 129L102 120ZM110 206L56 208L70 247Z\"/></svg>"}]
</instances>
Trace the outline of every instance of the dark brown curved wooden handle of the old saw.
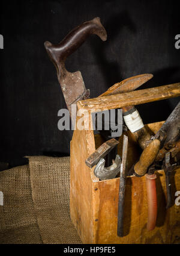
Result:
<instances>
[{"instance_id":1,"label":"dark brown curved wooden handle of the old saw","mask_svg":"<svg viewBox=\"0 0 180 256\"><path fill-rule=\"evenodd\" d=\"M106 30L101 24L100 17L95 17L92 20L83 22L78 27L74 28L67 36L57 45L46 41L44 47L52 62L55 64L58 78L63 75L65 70L64 62L66 58L79 48L90 34L97 34L101 40L106 41Z\"/></svg>"}]
</instances>

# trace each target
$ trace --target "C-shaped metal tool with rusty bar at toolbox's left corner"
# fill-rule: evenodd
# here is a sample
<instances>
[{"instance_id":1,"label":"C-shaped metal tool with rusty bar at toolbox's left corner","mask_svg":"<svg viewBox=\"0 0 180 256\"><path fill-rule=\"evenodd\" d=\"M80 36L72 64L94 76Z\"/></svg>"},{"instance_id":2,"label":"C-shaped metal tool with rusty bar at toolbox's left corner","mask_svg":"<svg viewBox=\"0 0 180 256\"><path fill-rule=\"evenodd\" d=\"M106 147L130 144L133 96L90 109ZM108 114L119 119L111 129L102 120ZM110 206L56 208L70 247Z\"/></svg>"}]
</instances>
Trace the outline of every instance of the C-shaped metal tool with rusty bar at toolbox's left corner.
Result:
<instances>
[{"instance_id":1,"label":"C-shaped metal tool with rusty bar at toolbox's left corner","mask_svg":"<svg viewBox=\"0 0 180 256\"><path fill-rule=\"evenodd\" d=\"M86 165L90 168L97 164L94 169L94 174L100 178L100 180L113 179L120 171L121 157L119 155L116 155L115 161L113 161L113 164L109 167L104 167L105 160L103 158L106 157L106 155L115 148L118 143L119 142L116 139L104 142L98 149L96 149L95 152L89 155L85 161Z\"/></svg>"}]
</instances>

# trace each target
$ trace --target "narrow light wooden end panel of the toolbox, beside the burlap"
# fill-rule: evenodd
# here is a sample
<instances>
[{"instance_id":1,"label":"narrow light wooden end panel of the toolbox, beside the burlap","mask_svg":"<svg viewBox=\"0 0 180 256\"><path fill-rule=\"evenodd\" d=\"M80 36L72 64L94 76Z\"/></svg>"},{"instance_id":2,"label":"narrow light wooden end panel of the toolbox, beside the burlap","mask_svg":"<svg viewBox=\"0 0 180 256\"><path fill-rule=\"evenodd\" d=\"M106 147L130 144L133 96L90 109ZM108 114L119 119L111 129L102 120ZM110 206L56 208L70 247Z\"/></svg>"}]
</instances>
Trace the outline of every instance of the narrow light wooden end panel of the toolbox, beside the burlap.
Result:
<instances>
[{"instance_id":1,"label":"narrow light wooden end panel of the toolbox, beside the burlap","mask_svg":"<svg viewBox=\"0 0 180 256\"><path fill-rule=\"evenodd\" d=\"M70 214L83 243L93 243L92 181L99 179L86 166L85 160L94 151L93 131L74 130L70 158Z\"/></svg>"}]
</instances>

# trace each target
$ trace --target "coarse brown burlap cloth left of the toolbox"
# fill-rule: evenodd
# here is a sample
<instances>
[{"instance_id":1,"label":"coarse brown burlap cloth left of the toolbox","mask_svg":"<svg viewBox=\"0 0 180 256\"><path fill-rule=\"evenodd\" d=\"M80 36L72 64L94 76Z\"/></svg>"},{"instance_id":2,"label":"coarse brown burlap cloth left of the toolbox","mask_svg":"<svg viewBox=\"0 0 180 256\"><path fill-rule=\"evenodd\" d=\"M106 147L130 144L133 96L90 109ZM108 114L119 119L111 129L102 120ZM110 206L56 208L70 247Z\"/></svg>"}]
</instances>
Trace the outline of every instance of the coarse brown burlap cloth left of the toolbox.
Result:
<instances>
[{"instance_id":1,"label":"coarse brown burlap cloth left of the toolbox","mask_svg":"<svg viewBox=\"0 0 180 256\"><path fill-rule=\"evenodd\" d=\"M0 172L0 243L82 243L70 219L70 158Z\"/></svg>"}]
</instances>

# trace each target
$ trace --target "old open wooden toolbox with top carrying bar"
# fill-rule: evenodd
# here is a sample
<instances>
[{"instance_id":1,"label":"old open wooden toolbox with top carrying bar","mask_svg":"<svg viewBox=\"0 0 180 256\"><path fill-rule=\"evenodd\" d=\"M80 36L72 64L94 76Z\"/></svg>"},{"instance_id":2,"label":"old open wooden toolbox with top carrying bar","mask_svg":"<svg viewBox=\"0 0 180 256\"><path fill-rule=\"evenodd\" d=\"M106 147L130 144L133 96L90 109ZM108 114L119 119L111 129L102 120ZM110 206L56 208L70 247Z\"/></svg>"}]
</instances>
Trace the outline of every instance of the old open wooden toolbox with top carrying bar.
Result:
<instances>
[{"instance_id":1,"label":"old open wooden toolbox with top carrying bar","mask_svg":"<svg viewBox=\"0 0 180 256\"><path fill-rule=\"evenodd\" d=\"M161 86L79 101L77 108L96 111L137 105L180 95L180 86ZM80 117L77 117L78 122ZM89 113L89 124L92 122ZM156 133L163 122L146 125ZM128 166L140 156L140 148L128 131ZM119 138L118 154L122 151ZM146 230L148 205L145 176L128 176L125 188L124 237L117 236L119 178L100 181L94 167L85 164L86 158L103 143L92 130L74 130L71 140L70 212L71 220L83 243L180 243L180 205L166 210L166 182L163 170L157 173L158 215L156 227ZM180 168L176 168L172 193L180 191ZM180 192L179 192L180 193ZM180 199L179 199L180 201Z\"/></svg>"}]
</instances>

